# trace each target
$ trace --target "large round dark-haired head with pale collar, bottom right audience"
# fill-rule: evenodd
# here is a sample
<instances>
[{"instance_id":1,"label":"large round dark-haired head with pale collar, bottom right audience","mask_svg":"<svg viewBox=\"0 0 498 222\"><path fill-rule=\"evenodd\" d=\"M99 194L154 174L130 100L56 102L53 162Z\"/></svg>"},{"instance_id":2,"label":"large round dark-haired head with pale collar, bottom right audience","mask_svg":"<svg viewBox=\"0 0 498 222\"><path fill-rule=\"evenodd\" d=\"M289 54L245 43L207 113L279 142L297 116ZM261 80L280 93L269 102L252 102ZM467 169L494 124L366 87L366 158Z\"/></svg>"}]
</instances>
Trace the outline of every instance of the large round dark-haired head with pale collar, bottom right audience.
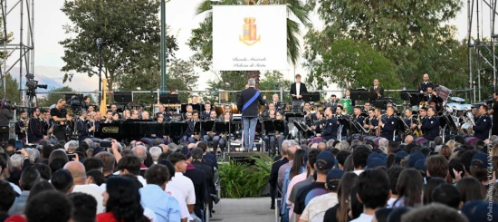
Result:
<instances>
[{"instance_id":1,"label":"large round dark-haired head with pale collar, bottom right audience","mask_svg":"<svg viewBox=\"0 0 498 222\"><path fill-rule=\"evenodd\" d=\"M371 222L375 211L385 208L391 198L388 174L381 169L367 169L359 174L355 187L356 196L363 204L363 213L350 222Z\"/></svg>"}]
</instances>

